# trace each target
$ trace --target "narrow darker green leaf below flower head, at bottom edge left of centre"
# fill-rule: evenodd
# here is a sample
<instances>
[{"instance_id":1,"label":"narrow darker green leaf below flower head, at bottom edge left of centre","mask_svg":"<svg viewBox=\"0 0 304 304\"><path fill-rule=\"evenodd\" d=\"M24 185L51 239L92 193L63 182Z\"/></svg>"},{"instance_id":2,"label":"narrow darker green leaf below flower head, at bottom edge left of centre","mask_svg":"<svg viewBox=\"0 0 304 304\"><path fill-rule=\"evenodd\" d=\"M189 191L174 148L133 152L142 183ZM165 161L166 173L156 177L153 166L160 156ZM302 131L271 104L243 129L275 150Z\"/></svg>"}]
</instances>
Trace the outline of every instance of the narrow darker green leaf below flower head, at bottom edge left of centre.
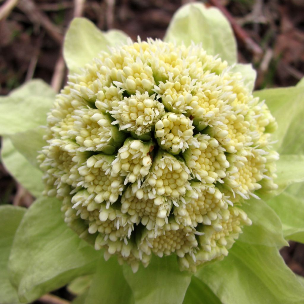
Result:
<instances>
[{"instance_id":1,"label":"narrow darker green leaf below flower head, at bottom edge left of centre","mask_svg":"<svg viewBox=\"0 0 304 304\"><path fill-rule=\"evenodd\" d=\"M102 284L101 284L102 282ZM123 269L116 257L105 261L103 257L98 262L92 284L85 299L85 304L132 304L133 294L123 276Z\"/></svg>"}]
</instances>

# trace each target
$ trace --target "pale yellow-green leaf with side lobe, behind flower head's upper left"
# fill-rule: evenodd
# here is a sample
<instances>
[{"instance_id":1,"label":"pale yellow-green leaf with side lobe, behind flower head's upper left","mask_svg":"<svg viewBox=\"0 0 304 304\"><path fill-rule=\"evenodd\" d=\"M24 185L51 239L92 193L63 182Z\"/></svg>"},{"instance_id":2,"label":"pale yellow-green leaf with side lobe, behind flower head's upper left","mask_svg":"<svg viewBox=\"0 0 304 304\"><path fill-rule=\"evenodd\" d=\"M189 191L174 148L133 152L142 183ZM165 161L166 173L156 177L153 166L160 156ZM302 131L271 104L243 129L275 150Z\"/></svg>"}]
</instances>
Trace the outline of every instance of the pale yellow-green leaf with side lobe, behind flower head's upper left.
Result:
<instances>
[{"instance_id":1,"label":"pale yellow-green leaf with side lobe, behind flower head's upper left","mask_svg":"<svg viewBox=\"0 0 304 304\"><path fill-rule=\"evenodd\" d=\"M127 35L119 30L103 33L93 22L85 18L74 18L67 30L63 55L70 73L90 63L101 51L109 52L109 46L126 43Z\"/></svg>"}]
</instances>

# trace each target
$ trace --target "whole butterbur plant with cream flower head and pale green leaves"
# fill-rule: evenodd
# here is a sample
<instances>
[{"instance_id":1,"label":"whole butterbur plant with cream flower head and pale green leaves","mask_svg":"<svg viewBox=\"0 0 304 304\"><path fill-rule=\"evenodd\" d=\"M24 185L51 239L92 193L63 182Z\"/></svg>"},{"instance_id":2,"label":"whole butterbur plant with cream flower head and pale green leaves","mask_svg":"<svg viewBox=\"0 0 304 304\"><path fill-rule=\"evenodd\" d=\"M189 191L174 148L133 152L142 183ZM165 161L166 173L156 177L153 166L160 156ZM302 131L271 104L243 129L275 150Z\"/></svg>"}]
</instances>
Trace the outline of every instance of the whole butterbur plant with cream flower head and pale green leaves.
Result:
<instances>
[{"instance_id":1,"label":"whole butterbur plant with cream flower head and pale green leaves","mask_svg":"<svg viewBox=\"0 0 304 304\"><path fill-rule=\"evenodd\" d=\"M94 273L69 287L81 303L302 303L278 253L304 240L301 83L253 93L229 23L202 4L164 40L74 19L64 57L59 94L32 81L1 103L4 164L38 197L0 209L2 302Z\"/></svg>"}]
</instances>

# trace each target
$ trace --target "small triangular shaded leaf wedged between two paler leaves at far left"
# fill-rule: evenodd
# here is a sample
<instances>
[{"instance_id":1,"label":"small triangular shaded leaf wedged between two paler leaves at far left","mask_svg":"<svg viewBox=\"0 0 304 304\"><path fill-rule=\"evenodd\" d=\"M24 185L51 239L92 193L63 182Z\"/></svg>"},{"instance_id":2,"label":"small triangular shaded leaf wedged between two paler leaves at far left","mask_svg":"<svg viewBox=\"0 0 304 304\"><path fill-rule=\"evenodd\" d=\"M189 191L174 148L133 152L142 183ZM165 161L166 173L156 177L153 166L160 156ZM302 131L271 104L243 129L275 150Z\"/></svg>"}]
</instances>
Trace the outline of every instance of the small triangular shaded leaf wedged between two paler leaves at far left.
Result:
<instances>
[{"instance_id":1,"label":"small triangular shaded leaf wedged between two paler leaves at far left","mask_svg":"<svg viewBox=\"0 0 304 304\"><path fill-rule=\"evenodd\" d=\"M42 150L47 143L43 140L45 130L37 127L35 129L26 130L9 135L14 147L36 168L38 151Z\"/></svg>"}]
</instances>

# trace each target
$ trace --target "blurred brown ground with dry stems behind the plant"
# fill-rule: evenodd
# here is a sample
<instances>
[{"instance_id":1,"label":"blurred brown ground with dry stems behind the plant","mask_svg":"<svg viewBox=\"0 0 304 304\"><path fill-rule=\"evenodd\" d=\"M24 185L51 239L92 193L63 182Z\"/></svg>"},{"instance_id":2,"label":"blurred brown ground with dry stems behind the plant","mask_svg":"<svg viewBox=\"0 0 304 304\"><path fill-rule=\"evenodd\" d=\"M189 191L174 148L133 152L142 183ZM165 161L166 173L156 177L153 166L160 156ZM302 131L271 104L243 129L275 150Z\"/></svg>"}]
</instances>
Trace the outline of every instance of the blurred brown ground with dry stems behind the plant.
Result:
<instances>
[{"instance_id":1,"label":"blurred brown ground with dry stems behind the plant","mask_svg":"<svg viewBox=\"0 0 304 304\"><path fill-rule=\"evenodd\" d=\"M92 20L104 31L121 29L133 40L137 36L142 40L163 38L174 12L188 2L191 1L0 1L0 95L32 78L42 78L60 90L67 75L61 54L63 37L75 16ZM251 62L257 70L255 89L292 86L304 76L304 0L204 3L218 7L230 20L237 37L239 61ZM0 204L29 206L32 201L33 197L0 163ZM303 252L304 245L293 242L281 251L288 266L299 275L304 275ZM57 294L71 300L65 289ZM56 303L54 299L40 300L37 303Z\"/></svg>"}]
</instances>

